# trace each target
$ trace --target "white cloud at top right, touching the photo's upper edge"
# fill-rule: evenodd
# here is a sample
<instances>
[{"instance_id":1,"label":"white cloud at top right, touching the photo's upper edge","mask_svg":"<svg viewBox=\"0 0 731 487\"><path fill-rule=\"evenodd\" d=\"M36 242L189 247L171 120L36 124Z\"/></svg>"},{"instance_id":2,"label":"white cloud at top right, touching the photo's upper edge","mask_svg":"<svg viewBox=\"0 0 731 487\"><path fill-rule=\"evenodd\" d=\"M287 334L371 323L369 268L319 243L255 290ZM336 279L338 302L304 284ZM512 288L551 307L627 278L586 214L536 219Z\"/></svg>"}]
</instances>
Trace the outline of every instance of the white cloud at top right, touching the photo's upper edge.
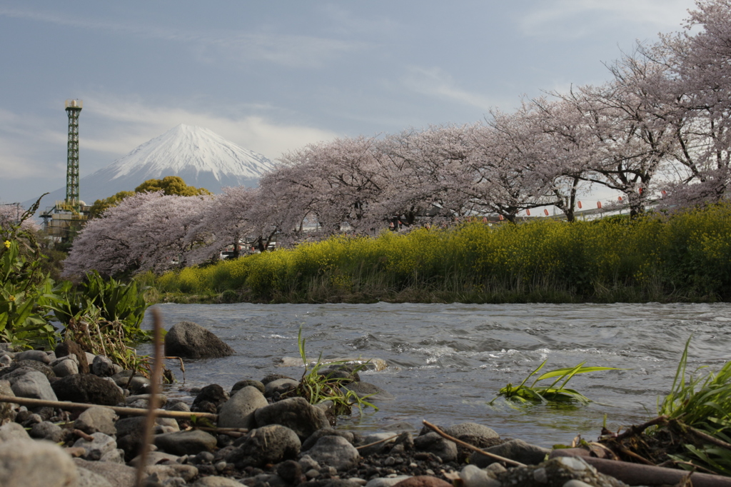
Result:
<instances>
[{"instance_id":1,"label":"white cloud at top right, touching the photo's upper edge","mask_svg":"<svg viewBox=\"0 0 731 487\"><path fill-rule=\"evenodd\" d=\"M526 35L585 37L597 29L621 23L640 24L643 29L678 30L693 0L553 0L520 18Z\"/></svg>"}]
</instances>

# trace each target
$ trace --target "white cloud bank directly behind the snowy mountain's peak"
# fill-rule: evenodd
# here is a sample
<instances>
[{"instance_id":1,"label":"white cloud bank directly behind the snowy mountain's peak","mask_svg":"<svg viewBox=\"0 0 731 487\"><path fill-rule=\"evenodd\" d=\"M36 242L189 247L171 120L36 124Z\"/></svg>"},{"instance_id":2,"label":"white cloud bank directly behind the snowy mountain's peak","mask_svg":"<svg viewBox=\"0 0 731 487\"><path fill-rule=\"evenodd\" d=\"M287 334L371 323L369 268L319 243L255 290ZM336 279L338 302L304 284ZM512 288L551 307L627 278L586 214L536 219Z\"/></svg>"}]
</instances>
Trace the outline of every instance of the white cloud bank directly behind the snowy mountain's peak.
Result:
<instances>
[{"instance_id":1,"label":"white cloud bank directly behind the snowy mountain's peak","mask_svg":"<svg viewBox=\"0 0 731 487\"><path fill-rule=\"evenodd\" d=\"M338 136L335 132L316 127L280 124L264 116L224 117L183 108L154 106L141 99L87 97L84 105L89 110L94 107L94 117L99 118L104 127L109 127L85 137L84 146L120 155L179 124L211 129L227 140L272 159L308 143Z\"/></svg>"}]
</instances>

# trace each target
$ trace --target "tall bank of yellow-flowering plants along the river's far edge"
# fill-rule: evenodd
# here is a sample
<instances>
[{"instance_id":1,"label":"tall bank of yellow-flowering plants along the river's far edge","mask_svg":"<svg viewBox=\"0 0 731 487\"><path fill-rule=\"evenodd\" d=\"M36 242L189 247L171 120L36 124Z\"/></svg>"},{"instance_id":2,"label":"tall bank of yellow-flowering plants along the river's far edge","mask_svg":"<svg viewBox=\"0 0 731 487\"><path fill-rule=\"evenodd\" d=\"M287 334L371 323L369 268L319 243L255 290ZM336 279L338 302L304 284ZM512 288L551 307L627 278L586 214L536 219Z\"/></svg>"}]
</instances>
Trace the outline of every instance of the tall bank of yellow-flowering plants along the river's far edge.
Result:
<instances>
[{"instance_id":1,"label":"tall bank of yellow-flowering plants along the river's far edge","mask_svg":"<svg viewBox=\"0 0 731 487\"><path fill-rule=\"evenodd\" d=\"M728 301L731 206L340 236L143 279L163 295L239 301Z\"/></svg>"}]
</instances>

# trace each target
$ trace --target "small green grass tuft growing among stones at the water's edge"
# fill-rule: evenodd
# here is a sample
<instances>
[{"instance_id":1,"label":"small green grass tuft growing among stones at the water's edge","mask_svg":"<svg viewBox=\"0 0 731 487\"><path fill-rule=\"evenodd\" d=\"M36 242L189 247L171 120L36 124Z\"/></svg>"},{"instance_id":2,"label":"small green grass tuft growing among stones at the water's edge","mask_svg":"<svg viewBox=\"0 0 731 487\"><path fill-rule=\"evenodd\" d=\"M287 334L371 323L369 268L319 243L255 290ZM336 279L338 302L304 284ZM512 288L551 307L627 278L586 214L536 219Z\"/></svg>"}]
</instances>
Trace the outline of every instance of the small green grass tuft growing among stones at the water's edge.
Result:
<instances>
[{"instance_id":1,"label":"small green grass tuft growing among stones at the water's edge","mask_svg":"<svg viewBox=\"0 0 731 487\"><path fill-rule=\"evenodd\" d=\"M301 396L310 404L320 404L325 401L333 402L333 412L336 416L338 415L350 415L352 414L352 408L355 406L358 412L363 413L363 407L371 407L374 410L378 410L374 404L366 401L368 396L358 396L352 390L347 390L344 386L351 379L346 377L330 377L328 374L322 374L322 367L325 363L322 363L322 352L320 352L317 362L310 367L310 362L307 360L305 352L306 339L302 337L302 328L297 334L297 344L300 352L300 357L305 366L305 370L300 380L300 385L293 391L293 395ZM327 363L327 366L338 366L346 365L345 362L331 362ZM351 374L357 374L358 371L365 369L365 364L355 366L355 369L349 370Z\"/></svg>"}]
</instances>

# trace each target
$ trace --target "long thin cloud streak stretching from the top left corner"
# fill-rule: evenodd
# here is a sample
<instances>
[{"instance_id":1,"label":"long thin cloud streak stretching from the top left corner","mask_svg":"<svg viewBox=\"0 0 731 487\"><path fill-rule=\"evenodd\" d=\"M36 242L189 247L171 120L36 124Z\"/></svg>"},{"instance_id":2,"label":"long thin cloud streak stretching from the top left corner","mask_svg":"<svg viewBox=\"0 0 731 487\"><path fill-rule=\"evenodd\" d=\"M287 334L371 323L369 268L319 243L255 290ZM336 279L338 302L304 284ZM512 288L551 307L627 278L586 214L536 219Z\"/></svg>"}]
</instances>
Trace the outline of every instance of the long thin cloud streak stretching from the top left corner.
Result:
<instances>
[{"instance_id":1,"label":"long thin cloud streak stretching from the top left corner","mask_svg":"<svg viewBox=\"0 0 731 487\"><path fill-rule=\"evenodd\" d=\"M213 58L220 57L228 61L238 62L264 61L290 68L320 67L346 53L374 48L366 42L295 35L286 32L177 30L139 22L102 20L79 15L71 16L57 12L20 10L7 7L0 7L0 16L52 23L75 29L178 42L188 45L194 58L202 63L210 63Z\"/></svg>"}]
</instances>

